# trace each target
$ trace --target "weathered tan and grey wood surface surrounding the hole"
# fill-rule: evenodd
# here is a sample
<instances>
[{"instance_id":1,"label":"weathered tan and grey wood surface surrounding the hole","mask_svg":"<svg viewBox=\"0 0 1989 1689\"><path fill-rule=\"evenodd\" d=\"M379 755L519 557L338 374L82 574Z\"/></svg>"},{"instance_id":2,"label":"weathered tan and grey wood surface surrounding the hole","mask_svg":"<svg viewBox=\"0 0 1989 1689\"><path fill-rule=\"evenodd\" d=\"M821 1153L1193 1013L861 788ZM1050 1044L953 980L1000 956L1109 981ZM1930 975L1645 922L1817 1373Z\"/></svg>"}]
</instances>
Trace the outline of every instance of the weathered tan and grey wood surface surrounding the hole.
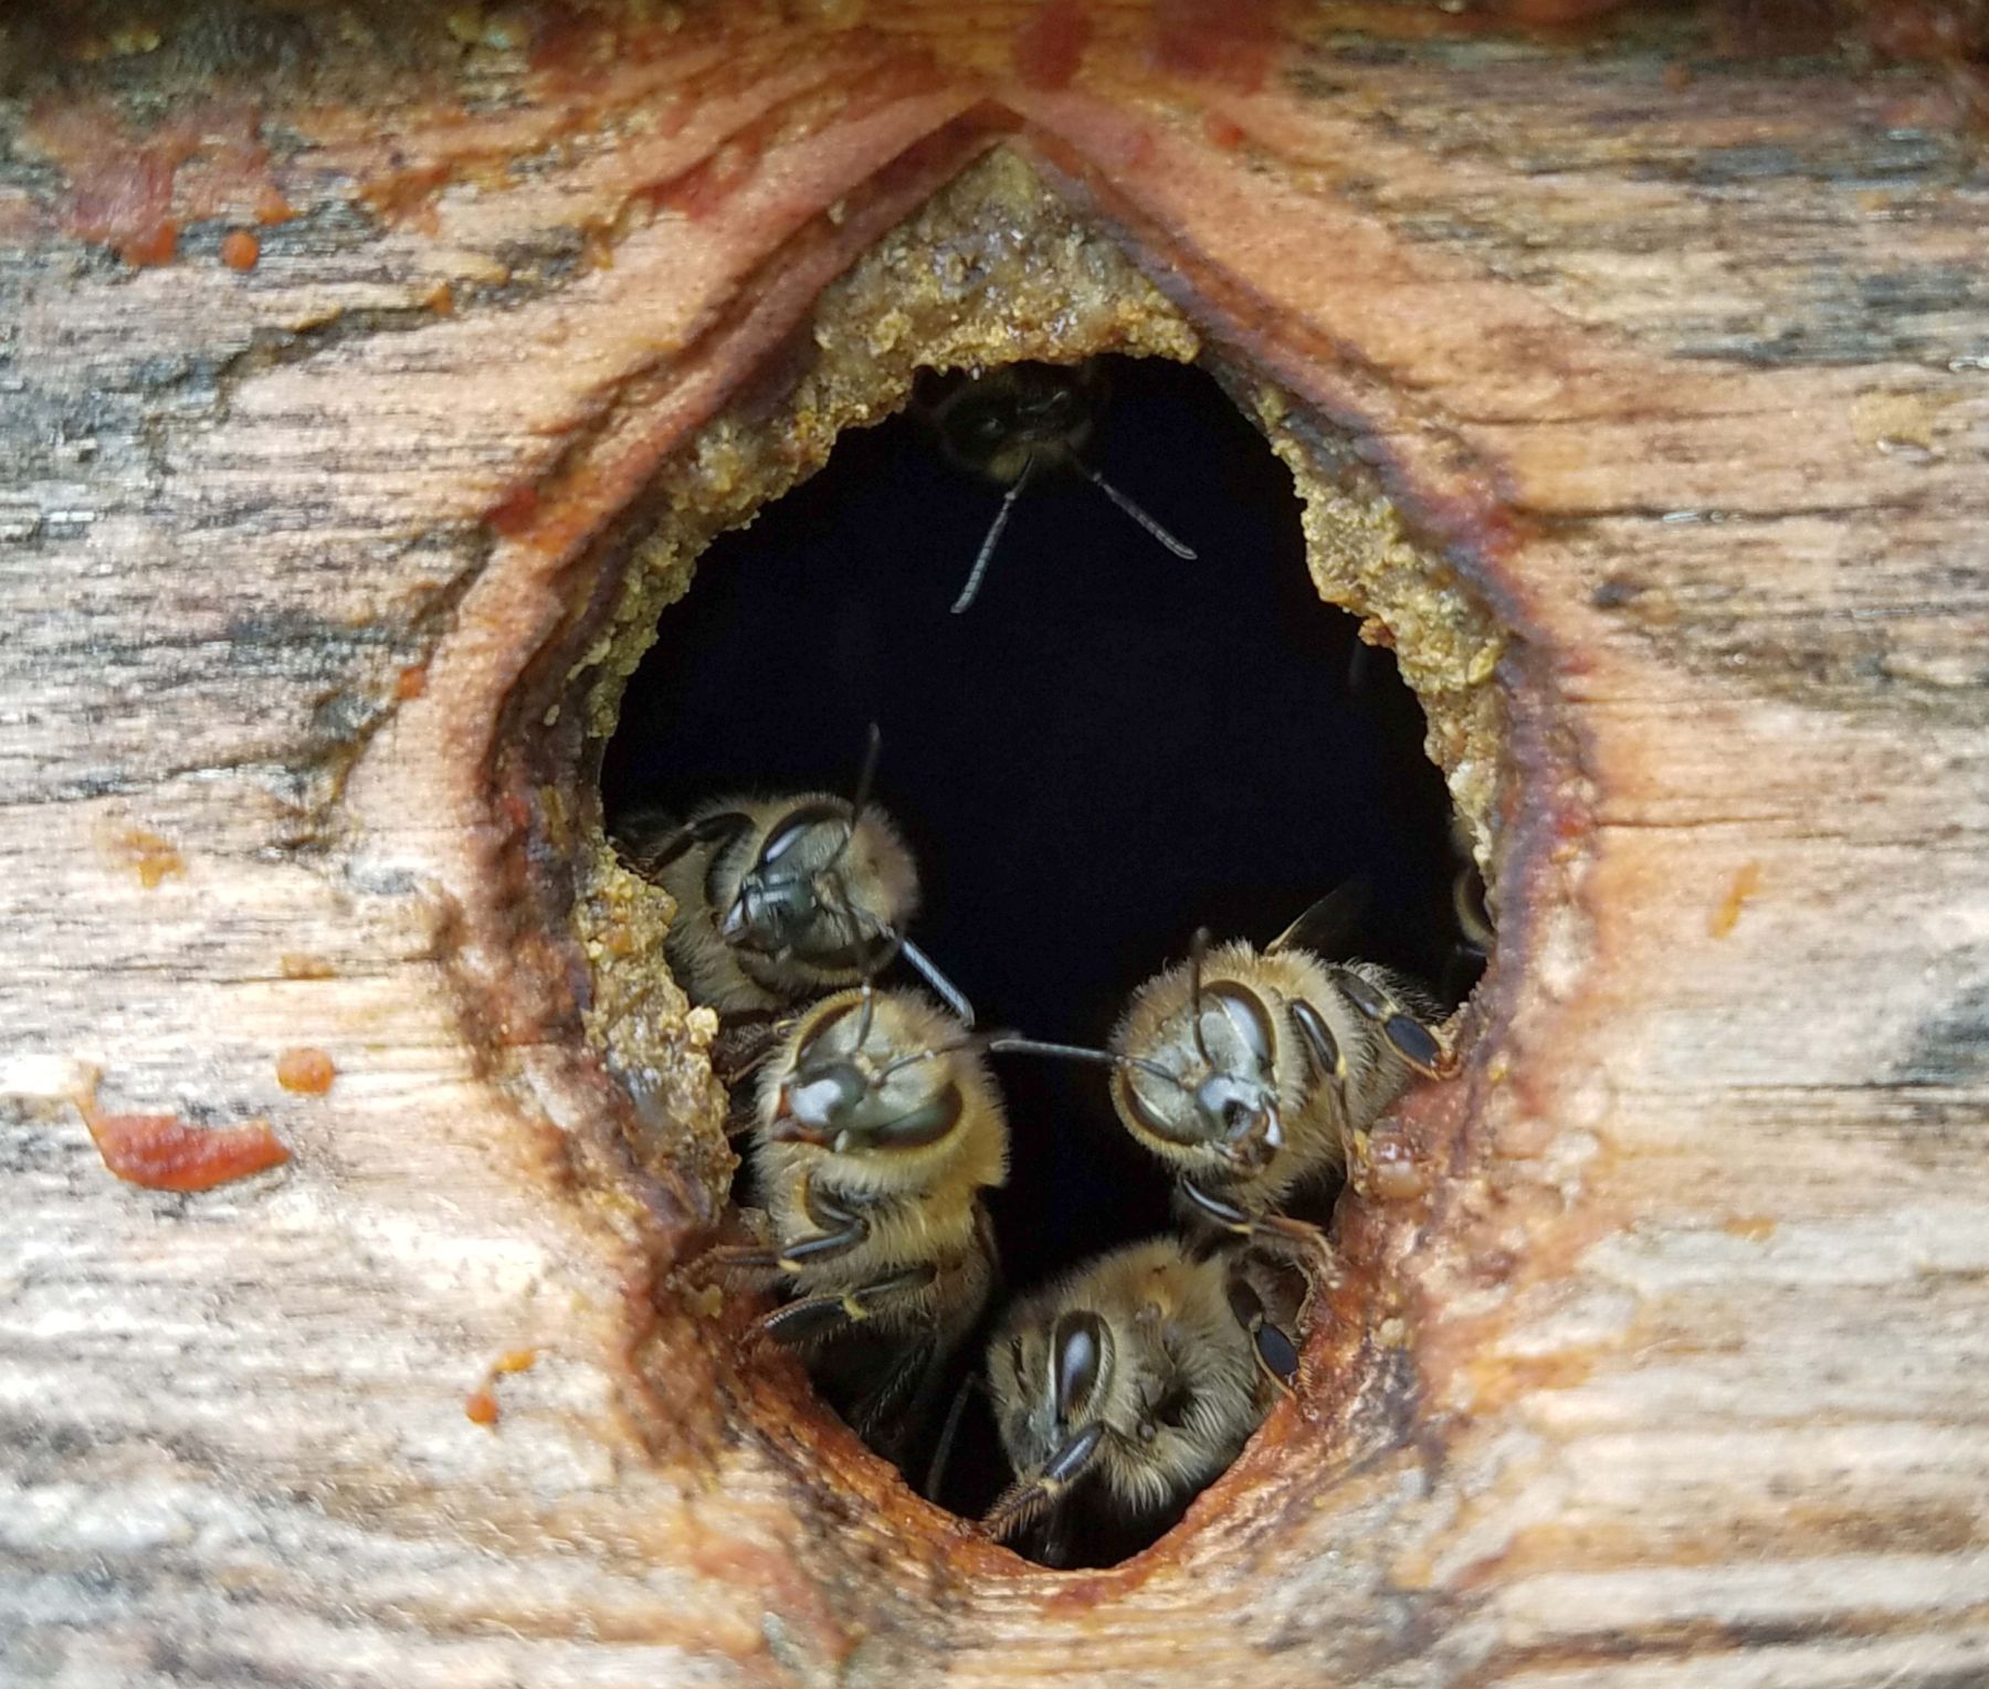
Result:
<instances>
[{"instance_id":1,"label":"weathered tan and grey wood surface surrounding the hole","mask_svg":"<svg viewBox=\"0 0 1989 1689\"><path fill-rule=\"evenodd\" d=\"M1937 86L1370 8L1249 90L1094 8L1048 90L1022 20L479 48L473 121L364 32L251 44L298 215L247 273L239 209L163 267L80 239L88 153L8 111L0 1679L1989 1677L1989 193ZM581 1056L463 1015L477 726L565 579L485 517L698 422L983 121L1355 430L1559 736L1486 1036L1408 1110L1446 1160L1368 1227L1412 1434L1329 1484L1287 1412L1080 1580L754 1432L702 1349L631 1371ZM88 1066L292 1162L119 1184Z\"/></svg>"}]
</instances>

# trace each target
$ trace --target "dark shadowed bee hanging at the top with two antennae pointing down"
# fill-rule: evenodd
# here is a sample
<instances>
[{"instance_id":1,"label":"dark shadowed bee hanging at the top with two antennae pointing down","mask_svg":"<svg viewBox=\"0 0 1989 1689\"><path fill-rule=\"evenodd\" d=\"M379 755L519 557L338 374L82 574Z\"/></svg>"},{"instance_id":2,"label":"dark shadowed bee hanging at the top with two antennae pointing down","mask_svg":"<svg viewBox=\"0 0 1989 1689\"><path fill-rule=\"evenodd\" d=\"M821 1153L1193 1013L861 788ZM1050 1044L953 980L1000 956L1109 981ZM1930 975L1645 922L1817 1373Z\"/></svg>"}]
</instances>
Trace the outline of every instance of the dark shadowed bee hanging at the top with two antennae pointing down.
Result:
<instances>
[{"instance_id":1,"label":"dark shadowed bee hanging at the top with two antennae pointing down","mask_svg":"<svg viewBox=\"0 0 1989 1689\"><path fill-rule=\"evenodd\" d=\"M981 541L973 573L953 601L953 615L973 605L981 579L994 561L994 547L1008 525L1014 501L1040 469L1076 471L1168 551L1195 561L1189 547L1084 462L1082 452L1098 428L1098 414L1106 402L1104 370L1096 362L1004 364L981 376L957 378L951 384L941 380L933 386L937 392L923 402L923 410L939 434L941 454L957 468L1006 487L987 539Z\"/></svg>"}]
</instances>

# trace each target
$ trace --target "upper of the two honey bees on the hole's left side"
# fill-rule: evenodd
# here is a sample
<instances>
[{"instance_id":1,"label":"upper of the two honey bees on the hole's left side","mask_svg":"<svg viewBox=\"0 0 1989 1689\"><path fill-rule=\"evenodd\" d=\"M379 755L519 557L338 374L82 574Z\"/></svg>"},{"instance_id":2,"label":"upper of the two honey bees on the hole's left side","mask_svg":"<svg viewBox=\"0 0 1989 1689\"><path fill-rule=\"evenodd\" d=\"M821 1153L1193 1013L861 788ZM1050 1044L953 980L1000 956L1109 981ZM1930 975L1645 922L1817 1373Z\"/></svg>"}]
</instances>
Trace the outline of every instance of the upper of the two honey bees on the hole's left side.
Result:
<instances>
[{"instance_id":1,"label":"upper of the two honey bees on the hole's left side","mask_svg":"<svg viewBox=\"0 0 1989 1689\"><path fill-rule=\"evenodd\" d=\"M967 999L905 937L919 869L869 800L877 750L873 726L853 800L712 798L680 824L625 824L623 857L676 899L664 955L692 1003L764 1015L851 987L897 953L973 1025Z\"/></svg>"}]
</instances>

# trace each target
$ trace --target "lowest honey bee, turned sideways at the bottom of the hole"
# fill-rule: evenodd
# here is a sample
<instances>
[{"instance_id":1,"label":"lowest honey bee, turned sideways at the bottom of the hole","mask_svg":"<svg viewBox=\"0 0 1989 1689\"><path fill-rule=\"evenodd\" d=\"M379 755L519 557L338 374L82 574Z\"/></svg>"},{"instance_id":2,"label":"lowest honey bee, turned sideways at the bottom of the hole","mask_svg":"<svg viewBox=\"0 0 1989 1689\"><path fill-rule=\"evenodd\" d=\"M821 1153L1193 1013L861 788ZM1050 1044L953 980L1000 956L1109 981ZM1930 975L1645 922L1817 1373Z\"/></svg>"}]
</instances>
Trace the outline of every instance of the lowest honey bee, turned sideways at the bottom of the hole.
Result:
<instances>
[{"instance_id":1,"label":"lowest honey bee, turned sideways at the bottom of the hole","mask_svg":"<svg viewBox=\"0 0 1989 1689\"><path fill-rule=\"evenodd\" d=\"M1277 1309L1277 1319L1267 1313ZM1066 1564L1066 1502L1154 1534L1241 1452L1297 1379L1289 1275L1247 1249L1152 1237L1022 1297L989 1345L994 1422L1014 1482L981 1520L1006 1540L1038 1522Z\"/></svg>"}]
</instances>

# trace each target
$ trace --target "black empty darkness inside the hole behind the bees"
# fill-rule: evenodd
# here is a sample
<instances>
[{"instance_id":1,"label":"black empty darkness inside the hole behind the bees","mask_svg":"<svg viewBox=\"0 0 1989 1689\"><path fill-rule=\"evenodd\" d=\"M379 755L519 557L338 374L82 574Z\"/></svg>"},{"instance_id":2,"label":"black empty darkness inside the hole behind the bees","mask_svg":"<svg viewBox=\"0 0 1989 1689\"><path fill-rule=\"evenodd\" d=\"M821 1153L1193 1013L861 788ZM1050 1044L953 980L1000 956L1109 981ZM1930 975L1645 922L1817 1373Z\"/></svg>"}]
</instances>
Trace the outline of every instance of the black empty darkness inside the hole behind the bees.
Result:
<instances>
[{"instance_id":1,"label":"black empty darkness inside the hole behind the bees","mask_svg":"<svg viewBox=\"0 0 1989 1689\"><path fill-rule=\"evenodd\" d=\"M1349 955L1456 1001L1476 971L1448 794L1394 658L1319 601L1291 473L1213 378L1106 362L1086 460L1197 561L1082 479L1038 475L975 607L949 615L998 489L913 416L849 432L664 617L603 760L611 832L636 806L847 792L875 720L877 802L925 879L913 935L983 1027L1102 1044L1197 925L1267 943L1355 875L1372 889ZM1102 1072L1010 1058L998 1078L1010 1289L1168 1227L1168 1180ZM941 1500L981 1512L1004 1478L973 1403Z\"/></svg>"}]
</instances>

